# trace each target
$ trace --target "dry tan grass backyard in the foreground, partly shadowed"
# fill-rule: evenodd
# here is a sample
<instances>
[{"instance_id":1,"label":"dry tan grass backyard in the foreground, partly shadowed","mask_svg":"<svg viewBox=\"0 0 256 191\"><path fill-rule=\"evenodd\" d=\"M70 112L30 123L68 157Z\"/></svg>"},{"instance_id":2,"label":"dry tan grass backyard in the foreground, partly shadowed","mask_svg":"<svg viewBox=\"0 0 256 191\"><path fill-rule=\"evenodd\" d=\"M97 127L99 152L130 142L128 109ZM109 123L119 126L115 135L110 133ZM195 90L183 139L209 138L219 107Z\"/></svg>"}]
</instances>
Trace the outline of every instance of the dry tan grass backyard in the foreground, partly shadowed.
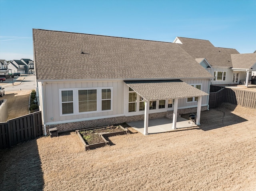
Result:
<instances>
[{"instance_id":1,"label":"dry tan grass backyard in the foreground, partly shadowed","mask_svg":"<svg viewBox=\"0 0 256 191\"><path fill-rule=\"evenodd\" d=\"M201 124L90 151L75 132L0 150L0 190L255 191L256 110L222 104Z\"/></svg>"}]
</instances>

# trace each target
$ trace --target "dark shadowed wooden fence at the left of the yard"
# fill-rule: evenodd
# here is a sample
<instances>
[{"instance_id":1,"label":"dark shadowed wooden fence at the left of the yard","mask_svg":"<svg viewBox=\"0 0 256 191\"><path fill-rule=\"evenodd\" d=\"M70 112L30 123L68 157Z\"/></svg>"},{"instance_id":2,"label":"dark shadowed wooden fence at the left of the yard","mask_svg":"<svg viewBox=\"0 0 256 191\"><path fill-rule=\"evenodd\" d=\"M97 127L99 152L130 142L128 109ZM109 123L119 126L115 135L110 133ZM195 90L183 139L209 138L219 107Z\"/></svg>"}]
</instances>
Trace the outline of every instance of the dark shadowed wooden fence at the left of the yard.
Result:
<instances>
[{"instance_id":1,"label":"dark shadowed wooden fence at the left of the yard","mask_svg":"<svg viewBox=\"0 0 256 191\"><path fill-rule=\"evenodd\" d=\"M0 123L0 149L43 135L41 111Z\"/></svg>"}]
</instances>

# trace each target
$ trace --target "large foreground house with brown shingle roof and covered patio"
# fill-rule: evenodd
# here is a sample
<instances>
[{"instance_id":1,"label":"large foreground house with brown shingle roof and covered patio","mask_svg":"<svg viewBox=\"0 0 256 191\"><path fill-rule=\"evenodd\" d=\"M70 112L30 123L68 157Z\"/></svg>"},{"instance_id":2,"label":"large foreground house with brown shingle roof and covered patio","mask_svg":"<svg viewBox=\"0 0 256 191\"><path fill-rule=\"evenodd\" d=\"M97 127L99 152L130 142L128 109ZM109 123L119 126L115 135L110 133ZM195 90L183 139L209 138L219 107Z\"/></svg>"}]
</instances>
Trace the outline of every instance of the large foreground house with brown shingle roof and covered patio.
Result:
<instances>
[{"instance_id":1,"label":"large foreground house with brown shingle roof and covered patio","mask_svg":"<svg viewBox=\"0 0 256 191\"><path fill-rule=\"evenodd\" d=\"M33 45L47 128L144 120L148 134L150 118L172 118L176 129L178 114L197 112L200 124L208 108L214 77L176 43L33 29Z\"/></svg>"}]
</instances>

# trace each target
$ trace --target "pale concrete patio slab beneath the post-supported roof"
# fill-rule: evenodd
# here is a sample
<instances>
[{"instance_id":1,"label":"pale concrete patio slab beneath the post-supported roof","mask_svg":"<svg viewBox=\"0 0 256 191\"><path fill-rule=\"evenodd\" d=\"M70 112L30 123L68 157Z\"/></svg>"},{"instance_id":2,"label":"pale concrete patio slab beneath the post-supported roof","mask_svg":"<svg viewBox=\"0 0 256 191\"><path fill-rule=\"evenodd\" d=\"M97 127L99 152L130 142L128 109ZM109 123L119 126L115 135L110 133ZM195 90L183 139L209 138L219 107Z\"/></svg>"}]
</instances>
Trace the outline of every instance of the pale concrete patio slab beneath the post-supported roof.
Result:
<instances>
[{"instance_id":1,"label":"pale concrete patio slab beneath the post-supported roof","mask_svg":"<svg viewBox=\"0 0 256 191\"><path fill-rule=\"evenodd\" d=\"M198 125L194 124L194 122L189 123L190 120L184 119L182 117L177 117L177 129L181 128L191 128L198 127ZM144 121L134 121L128 122L132 128L136 131L143 134L144 131ZM175 131L172 129L172 120L169 118L158 118L158 119L150 119L148 120L148 134L156 134L162 132Z\"/></svg>"}]
</instances>

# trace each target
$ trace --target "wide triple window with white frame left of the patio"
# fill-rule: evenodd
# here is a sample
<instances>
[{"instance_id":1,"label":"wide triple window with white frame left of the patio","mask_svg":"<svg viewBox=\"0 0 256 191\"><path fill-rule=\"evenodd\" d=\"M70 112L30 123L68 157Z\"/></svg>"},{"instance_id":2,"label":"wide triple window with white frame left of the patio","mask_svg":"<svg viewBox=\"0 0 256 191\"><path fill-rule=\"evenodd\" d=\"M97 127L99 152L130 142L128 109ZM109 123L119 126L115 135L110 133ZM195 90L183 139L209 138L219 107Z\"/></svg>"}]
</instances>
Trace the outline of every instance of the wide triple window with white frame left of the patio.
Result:
<instances>
[{"instance_id":1,"label":"wide triple window with white frame left of the patio","mask_svg":"<svg viewBox=\"0 0 256 191\"><path fill-rule=\"evenodd\" d=\"M112 87L59 89L60 115L112 110Z\"/></svg>"}]
</instances>

